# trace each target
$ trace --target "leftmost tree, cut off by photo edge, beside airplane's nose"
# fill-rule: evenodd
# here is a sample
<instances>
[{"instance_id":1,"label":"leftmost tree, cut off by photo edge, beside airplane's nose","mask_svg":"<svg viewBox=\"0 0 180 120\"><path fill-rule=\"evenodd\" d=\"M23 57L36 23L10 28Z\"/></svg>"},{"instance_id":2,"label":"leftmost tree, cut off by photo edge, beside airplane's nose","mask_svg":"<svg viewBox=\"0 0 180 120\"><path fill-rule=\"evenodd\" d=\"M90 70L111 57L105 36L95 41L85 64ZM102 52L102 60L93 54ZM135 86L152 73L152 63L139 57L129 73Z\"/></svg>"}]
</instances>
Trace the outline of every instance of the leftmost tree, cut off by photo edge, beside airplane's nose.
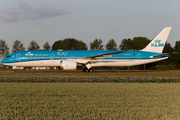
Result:
<instances>
[{"instance_id":1,"label":"leftmost tree, cut off by photo edge, beside airplane's nose","mask_svg":"<svg viewBox=\"0 0 180 120\"><path fill-rule=\"evenodd\" d=\"M5 58L9 54L9 47L5 40L0 40L0 56Z\"/></svg>"}]
</instances>

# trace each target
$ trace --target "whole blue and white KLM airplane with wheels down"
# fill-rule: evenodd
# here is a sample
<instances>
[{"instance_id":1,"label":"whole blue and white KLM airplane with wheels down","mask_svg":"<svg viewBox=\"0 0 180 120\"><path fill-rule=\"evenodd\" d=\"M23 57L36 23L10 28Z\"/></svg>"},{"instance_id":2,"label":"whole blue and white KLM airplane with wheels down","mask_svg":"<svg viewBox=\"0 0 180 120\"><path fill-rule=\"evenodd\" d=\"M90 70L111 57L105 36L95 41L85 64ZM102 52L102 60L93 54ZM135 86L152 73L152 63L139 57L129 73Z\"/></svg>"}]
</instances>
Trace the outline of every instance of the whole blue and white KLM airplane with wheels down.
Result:
<instances>
[{"instance_id":1,"label":"whole blue and white KLM airplane with wheels down","mask_svg":"<svg viewBox=\"0 0 180 120\"><path fill-rule=\"evenodd\" d=\"M19 51L9 54L1 64L17 67L59 67L61 70L76 70L84 66L83 72L93 72L93 67L142 65L169 57L162 53L172 27L165 27L142 50L35 50Z\"/></svg>"}]
</instances>

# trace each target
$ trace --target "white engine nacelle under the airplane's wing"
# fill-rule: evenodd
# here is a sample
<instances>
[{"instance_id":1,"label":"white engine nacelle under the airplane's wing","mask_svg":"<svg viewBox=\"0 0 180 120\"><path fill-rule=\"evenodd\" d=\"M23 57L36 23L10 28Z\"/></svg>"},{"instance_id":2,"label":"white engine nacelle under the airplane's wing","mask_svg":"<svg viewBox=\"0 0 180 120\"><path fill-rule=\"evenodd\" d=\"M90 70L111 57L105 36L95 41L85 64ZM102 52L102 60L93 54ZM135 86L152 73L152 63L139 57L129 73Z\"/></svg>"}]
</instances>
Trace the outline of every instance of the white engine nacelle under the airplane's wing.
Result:
<instances>
[{"instance_id":1,"label":"white engine nacelle under the airplane's wing","mask_svg":"<svg viewBox=\"0 0 180 120\"><path fill-rule=\"evenodd\" d=\"M72 60L61 60L60 68L62 70L76 70L77 62Z\"/></svg>"}]
</instances>

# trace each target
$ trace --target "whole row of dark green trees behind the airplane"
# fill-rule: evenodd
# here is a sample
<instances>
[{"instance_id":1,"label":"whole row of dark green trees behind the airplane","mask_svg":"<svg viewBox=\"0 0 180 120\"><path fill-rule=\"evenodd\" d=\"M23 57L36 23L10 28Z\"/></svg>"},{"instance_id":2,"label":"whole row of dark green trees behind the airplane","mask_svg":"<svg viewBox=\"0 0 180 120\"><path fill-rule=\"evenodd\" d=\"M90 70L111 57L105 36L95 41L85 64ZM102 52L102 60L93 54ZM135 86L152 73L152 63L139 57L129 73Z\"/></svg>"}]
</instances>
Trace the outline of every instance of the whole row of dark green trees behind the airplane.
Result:
<instances>
[{"instance_id":1,"label":"whole row of dark green trees behind the airplane","mask_svg":"<svg viewBox=\"0 0 180 120\"><path fill-rule=\"evenodd\" d=\"M118 46L114 39L110 39L104 46L101 39L95 39L89 43L90 50L141 50L150 43L150 39L146 37L134 37L133 39L123 39ZM88 50L88 45L82 40L75 38L66 38L63 40L55 41L52 46L45 42L43 48L40 49L38 43L32 40L27 47L27 50ZM26 48L20 40L15 40L12 45L11 52L24 51ZM180 68L180 41L176 41L175 46L172 47L170 43L166 43L163 53L173 53L172 56L160 62L150 63L140 66L130 67L129 69L149 69L149 70L167 70ZM0 57L4 58L10 53L8 44L5 40L0 40ZM127 69L127 68L124 68Z\"/></svg>"}]
</instances>

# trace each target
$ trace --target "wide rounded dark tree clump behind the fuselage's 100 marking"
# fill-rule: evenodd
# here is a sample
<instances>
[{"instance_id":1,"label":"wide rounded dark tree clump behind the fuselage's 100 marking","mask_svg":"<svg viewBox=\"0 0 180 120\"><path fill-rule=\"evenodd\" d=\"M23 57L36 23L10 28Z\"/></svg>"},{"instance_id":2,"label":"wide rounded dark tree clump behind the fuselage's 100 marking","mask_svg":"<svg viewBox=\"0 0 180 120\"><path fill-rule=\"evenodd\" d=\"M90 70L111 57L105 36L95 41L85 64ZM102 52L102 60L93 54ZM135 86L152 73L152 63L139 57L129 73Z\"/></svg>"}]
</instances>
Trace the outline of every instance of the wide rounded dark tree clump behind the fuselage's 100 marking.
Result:
<instances>
[{"instance_id":1,"label":"wide rounded dark tree clump behind the fuselage's 100 marking","mask_svg":"<svg viewBox=\"0 0 180 120\"><path fill-rule=\"evenodd\" d=\"M66 38L64 40L56 41L52 45L53 50L87 50L87 45L81 40L76 40L74 38Z\"/></svg>"}]
</instances>

